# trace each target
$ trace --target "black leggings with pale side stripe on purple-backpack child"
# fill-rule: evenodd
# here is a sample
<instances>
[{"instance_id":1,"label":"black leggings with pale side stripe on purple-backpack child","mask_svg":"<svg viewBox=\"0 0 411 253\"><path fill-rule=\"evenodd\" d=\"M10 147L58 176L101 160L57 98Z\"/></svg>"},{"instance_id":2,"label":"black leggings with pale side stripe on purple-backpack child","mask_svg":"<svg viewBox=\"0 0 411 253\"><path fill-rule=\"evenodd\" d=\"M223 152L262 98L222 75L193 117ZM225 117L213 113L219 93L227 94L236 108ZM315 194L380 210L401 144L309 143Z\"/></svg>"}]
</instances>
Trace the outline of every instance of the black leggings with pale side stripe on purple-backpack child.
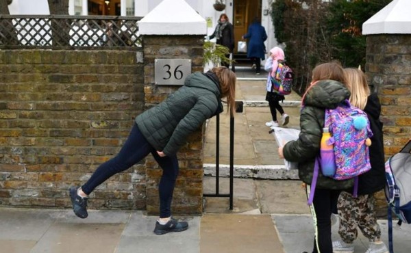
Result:
<instances>
[{"instance_id":1,"label":"black leggings with pale side stripe on purple-backpack child","mask_svg":"<svg viewBox=\"0 0 411 253\"><path fill-rule=\"evenodd\" d=\"M307 185L310 189L310 185ZM310 193L307 191L307 196ZM335 207L339 190L332 189L315 189L314 199L312 200L311 214L314 221L314 229L316 230L314 236L313 253L333 253L332 239L331 239L331 213Z\"/></svg>"}]
</instances>

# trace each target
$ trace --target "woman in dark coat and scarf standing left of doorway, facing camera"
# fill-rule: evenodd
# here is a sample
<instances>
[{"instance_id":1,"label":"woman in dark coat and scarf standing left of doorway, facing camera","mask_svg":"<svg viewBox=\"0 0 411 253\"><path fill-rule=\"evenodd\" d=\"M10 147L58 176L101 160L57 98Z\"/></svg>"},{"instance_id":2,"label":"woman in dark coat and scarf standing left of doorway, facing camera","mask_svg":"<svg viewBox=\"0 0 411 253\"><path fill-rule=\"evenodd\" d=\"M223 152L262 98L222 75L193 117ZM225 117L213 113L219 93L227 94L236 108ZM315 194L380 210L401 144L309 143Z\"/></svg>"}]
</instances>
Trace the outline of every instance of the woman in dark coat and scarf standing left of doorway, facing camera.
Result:
<instances>
[{"instance_id":1,"label":"woman in dark coat and scarf standing left of doorway, facing camera","mask_svg":"<svg viewBox=\"0 0 411 253\"><path fill-rule=\"evenodd\" d=\"M221 14L219 22L216 25L214 33L210 35L210 39L216 38L216 44L227 47L229 54L234 51L234 27L232 23L229 23L228 16L226 14ZM229 54L225 57L229 58ZM221 62L221 66L229 68L229 62ZM234 68L233 68L234 70Z\"/></svg>"}]
</instances>

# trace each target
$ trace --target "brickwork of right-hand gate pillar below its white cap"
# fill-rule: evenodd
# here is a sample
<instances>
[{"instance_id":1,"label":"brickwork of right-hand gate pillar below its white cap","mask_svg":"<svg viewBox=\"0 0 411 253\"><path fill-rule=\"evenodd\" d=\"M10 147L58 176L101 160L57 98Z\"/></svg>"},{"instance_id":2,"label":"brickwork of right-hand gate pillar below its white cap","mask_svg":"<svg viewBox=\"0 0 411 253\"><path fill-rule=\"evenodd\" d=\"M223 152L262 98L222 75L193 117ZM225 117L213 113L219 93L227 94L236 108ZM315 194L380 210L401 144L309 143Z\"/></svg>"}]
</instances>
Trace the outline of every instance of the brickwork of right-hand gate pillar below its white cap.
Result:
<instances>
[{"instance_id":1,"label":"brickwork of right-hand gate pillar below its white cap","mask_svg":"<svg viewBox=\"0 0 411 253\"><path fill-rule=\"evenodd\" d=\"M366 75L382 103L384 151L388 158L411 137L411 35L367 36ZM376 197L378 213L386 215L384 192Z\"/></svg>"}]
</instances>

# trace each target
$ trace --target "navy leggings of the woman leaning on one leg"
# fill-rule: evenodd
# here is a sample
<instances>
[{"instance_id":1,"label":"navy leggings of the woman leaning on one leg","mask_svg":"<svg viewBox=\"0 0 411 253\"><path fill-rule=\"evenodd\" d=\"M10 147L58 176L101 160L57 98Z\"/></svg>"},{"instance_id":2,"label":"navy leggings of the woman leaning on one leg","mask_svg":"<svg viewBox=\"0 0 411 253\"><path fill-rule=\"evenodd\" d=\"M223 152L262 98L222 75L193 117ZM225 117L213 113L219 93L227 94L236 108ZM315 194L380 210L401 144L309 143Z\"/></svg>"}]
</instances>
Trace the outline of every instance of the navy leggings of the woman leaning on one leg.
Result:
<instances>
[{"instance_id":1,"label":"navy leggings of the woman leaning on one leg","mask_svg":"<svg viewBox=\"0 0 411 253\"><path fill-rule=\"evenodd\" d=\"M99 168L97 168L90 179L82 186L82 190L85 194L90 194L95 187L106 181L110 176L127 170L132 167L132 165L147 157L149 153L153 155L155 161L157 161L160 168L162 168L162 176L158 185L160 194L160 217L170 217L175 179L177 178L179 170L177 155L160 157L157 154L157 150L142 136L137 124L134 124L119 154L99 165Z\"/></svg>"}]
</instances>

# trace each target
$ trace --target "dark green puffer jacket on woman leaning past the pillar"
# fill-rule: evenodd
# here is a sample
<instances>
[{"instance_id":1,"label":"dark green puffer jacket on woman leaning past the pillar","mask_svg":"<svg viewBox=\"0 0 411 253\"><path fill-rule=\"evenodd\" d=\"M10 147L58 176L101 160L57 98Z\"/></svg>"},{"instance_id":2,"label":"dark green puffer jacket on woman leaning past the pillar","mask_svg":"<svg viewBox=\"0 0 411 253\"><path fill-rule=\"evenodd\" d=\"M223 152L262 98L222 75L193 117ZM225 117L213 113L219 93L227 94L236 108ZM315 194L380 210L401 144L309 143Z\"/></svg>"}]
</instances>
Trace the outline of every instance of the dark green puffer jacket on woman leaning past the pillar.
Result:
<instances>
[{"instance_id":1,"label":"dark green puffer jacket on woman leaning past the pillar","mask_svg":"<svg viewBox=\"0 0 411 253\"><path fill-rule=\"evenodd\" d=\"M175 155L187 136L222 111L219 80L212 72L194 72L165 101L136 117L142 135L155 150Z\"/></svg>"}]
</instances>

